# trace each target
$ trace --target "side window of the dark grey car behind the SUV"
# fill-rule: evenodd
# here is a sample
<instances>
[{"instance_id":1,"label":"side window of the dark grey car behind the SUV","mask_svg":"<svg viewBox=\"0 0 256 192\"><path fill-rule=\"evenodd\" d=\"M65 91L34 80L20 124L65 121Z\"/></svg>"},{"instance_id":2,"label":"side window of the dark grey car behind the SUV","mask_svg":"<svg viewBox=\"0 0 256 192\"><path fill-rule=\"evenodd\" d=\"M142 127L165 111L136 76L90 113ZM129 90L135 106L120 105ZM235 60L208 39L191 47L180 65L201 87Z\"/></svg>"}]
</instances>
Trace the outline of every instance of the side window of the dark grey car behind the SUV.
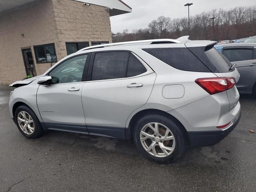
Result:
<instances>
[{"instance_id":1,"label":"side window of the dark grey car behind the SUV","mask_svg":"<svg viewBox=\"0 0 256 192\"><path fill-rule=\"evenodd\" d=\"M252 49L236 48L224 49L223 54L230 62L252 60Z\"/></svg>"}]
</instances>

